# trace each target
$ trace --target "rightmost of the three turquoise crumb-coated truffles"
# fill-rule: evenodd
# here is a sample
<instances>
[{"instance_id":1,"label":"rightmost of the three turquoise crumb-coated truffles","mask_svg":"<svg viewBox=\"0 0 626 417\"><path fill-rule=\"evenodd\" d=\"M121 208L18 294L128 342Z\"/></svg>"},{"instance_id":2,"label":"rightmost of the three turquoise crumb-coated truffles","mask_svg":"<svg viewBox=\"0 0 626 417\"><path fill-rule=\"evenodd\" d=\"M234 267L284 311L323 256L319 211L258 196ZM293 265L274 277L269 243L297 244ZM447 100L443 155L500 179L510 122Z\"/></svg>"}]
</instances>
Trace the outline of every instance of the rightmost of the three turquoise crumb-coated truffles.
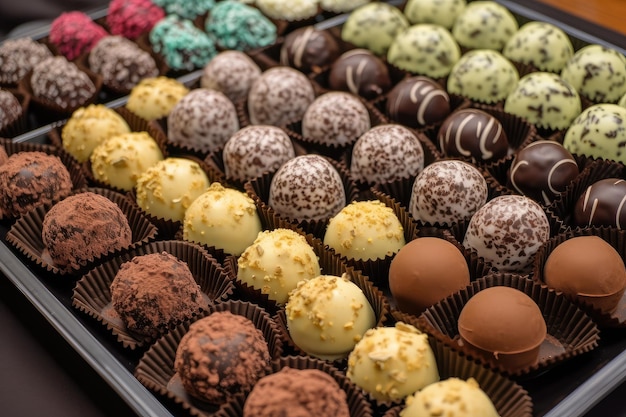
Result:
<instances>
[{"instance_id":1,"label":"rightmost of the three turquoise crumb-coated truffles","mask_svg":"<svg viewBox=\"0 0 626 417\"><path fill-rule=\"evenodd\" d=\"M222 49L247 51L276 41L276 26L258 9L238 1L218 3L205 28Z\"/></svg>"}]
</instances>

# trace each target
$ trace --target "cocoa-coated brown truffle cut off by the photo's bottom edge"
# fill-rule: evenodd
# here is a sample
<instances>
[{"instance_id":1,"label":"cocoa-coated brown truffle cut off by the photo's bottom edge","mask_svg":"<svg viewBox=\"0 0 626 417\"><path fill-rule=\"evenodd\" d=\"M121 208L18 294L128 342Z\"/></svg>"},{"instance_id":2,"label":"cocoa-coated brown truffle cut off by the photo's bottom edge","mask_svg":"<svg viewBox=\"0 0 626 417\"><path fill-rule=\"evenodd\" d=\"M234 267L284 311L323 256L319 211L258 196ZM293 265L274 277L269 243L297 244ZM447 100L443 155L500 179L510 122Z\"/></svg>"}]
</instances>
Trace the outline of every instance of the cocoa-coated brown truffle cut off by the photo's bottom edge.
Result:
<instances>
[{"instance_id":1,"label":"cocoa-coated brown truffle cut off by the photo's bottom edge","mask_svg":"<svg viewBox=\"0 0 626 417\"><path fill-rule=\"evenodd\" d=\"M244 417L350 417L345 391L319 369L285 367L265 376L248 395Z\"/></svg>"}]
</instances>

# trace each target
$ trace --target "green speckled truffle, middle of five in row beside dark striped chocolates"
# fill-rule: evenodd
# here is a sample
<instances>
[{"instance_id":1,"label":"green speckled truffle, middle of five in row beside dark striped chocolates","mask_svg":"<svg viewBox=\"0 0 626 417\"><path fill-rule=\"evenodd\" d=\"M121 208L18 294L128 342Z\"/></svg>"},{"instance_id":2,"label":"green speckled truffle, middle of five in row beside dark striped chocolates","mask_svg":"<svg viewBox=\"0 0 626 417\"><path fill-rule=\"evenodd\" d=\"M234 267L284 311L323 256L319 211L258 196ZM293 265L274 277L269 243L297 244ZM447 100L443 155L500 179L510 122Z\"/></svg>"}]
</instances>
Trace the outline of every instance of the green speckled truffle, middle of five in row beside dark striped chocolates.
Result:
<instances>
[{"instance_id":1,"label":"green speckled truffle, middle of five in row beside dark striped chocolates","mask_svg":"<svg viewBox=\"0 0 626 417\"><path fill-rule=\"evenodd\" d=\"M448 93L481 103L504 100L513 91L519 74L499 52L476 49L461 56L448 77Z\"/></svg>"}]
</instances>

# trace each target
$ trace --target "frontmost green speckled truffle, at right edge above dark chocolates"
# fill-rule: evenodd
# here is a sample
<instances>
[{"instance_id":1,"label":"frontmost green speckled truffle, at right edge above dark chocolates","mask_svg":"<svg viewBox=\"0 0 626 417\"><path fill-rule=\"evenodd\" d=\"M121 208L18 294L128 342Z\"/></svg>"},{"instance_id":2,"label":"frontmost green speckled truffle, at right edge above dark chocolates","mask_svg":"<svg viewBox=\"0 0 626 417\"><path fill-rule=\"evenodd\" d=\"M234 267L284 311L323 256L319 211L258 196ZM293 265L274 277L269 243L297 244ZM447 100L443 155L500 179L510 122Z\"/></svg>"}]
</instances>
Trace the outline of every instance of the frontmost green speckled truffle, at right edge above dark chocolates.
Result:
<instances>
[{"instance_id":1,"label":"frontmost green speckled truffle, at right edge above dark chocolates","mask_svg":"<svg viewBox=\"0 0 626 417\"><path fill-rule=\"evenodd\" d=\"M586 108L567 129L563 146L574 154L626 163L626 108L617 104Z\"/></svg>"}]
</instances>

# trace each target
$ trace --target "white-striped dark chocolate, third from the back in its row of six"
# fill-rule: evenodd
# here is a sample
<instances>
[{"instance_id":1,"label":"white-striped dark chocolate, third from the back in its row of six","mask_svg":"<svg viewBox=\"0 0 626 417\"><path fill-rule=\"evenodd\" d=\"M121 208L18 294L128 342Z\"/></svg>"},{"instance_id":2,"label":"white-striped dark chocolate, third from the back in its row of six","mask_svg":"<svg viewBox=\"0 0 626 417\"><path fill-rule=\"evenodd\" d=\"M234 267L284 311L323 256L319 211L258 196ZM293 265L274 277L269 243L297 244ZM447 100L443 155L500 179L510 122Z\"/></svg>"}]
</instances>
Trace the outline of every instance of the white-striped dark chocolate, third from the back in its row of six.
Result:
<instances>
[{"instance_id":1,"label":"white-striped dark chocolate, third from the back in its row of six","mask_svg":"<svg viewBox=\"0 0 626 417\"><path fill-rule=\"evenodd\" d=\"M450 114L450 97L442 86L424 76L405 78L387 94L386 114L409 127L439 123Z\"/></svg>"}]
</instances>

